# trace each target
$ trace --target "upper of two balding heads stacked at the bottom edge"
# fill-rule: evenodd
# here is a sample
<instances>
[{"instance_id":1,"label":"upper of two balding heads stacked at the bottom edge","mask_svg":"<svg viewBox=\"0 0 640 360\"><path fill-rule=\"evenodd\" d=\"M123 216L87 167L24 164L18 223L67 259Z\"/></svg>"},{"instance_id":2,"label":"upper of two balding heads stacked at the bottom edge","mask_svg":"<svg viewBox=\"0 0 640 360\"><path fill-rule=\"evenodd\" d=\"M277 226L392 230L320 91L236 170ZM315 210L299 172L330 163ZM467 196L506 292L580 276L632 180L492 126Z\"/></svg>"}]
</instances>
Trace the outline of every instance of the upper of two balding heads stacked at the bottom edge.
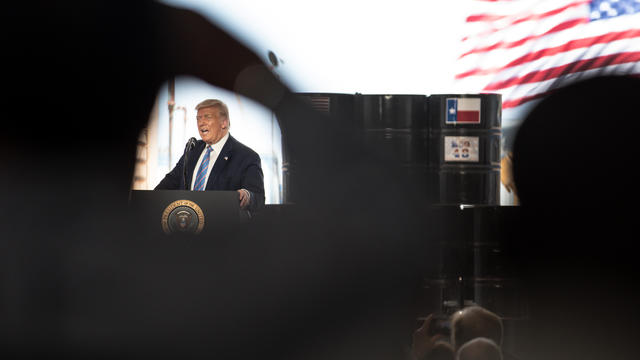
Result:
<instances>
[{"instance_id":1,"label":"upper of two balding heads stacked at the bottom edge","mask_svg":"<svg viewBox=\"0 0 640 360\"><path fill-rule=\"evenodd\" d=\"M457 311L451 318L451 342L459 349L469 340L484 337L502 345L502 319L480 306Z\"/></svg>"}]
</instances>

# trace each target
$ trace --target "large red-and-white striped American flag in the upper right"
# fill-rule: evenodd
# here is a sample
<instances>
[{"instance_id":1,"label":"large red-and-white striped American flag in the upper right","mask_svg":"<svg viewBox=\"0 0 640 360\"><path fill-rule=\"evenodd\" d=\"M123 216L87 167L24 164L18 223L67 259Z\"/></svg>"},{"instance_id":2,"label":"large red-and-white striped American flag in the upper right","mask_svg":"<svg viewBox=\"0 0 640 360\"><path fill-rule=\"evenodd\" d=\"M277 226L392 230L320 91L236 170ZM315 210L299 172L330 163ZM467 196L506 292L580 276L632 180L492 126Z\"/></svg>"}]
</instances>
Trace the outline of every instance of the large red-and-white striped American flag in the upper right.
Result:
<instances>
[{"instance_id":1,"label":"large red-and-white striped American flag in the upper right","mask_svg":"<svg viewBox=\"0 0 640 360\"><path fill-rule=\"evenodd\" d=\"M469 3L456 85L502 94L505 119L576 80L640 74L640 0Z\"/></svg>"}]
</instances>

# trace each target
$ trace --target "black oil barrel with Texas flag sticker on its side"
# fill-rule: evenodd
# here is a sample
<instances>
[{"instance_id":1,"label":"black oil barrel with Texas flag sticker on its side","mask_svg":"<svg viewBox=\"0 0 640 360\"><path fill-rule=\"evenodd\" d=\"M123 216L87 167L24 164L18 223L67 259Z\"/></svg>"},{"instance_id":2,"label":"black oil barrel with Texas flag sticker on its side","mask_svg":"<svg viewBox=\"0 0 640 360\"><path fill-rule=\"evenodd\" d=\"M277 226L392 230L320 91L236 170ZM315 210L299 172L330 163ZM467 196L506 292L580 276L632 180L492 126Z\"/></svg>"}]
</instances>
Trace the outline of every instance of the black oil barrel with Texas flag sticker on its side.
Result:
<instances>
[{"instance_id":1,"label":"black oil barrel with Texas flag sticker on its side","mask_svg":"<svg viewBox=\"0 0 640 360\"><path fill-rule=\"evenodd\" d=\"M500 204L500 94L430 95L429 176L436 204Z\"/></svg>"}]
</instances>

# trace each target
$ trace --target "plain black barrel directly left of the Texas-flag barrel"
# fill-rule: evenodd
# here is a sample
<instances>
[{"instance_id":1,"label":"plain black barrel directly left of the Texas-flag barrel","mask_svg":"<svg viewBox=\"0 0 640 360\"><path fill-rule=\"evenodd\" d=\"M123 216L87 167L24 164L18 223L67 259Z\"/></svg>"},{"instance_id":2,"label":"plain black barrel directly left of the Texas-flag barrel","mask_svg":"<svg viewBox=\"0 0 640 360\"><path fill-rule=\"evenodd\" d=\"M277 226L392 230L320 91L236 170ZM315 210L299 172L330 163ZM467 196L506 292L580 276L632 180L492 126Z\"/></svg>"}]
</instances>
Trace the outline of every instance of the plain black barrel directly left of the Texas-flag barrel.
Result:
<instances>
[{"instance_id":1,"label":"plain black barrel directly left of the Texas-flag barrel","mask_svg":"<svg viewBox=\"0 0 640 360\"><path fill-rule=\"evenodd\" d=\"M425 184L428 175L426 95L356 94L355 128L363 145ZM426 186L426 185L425 185Z\"/></svg>"}]
</instances>

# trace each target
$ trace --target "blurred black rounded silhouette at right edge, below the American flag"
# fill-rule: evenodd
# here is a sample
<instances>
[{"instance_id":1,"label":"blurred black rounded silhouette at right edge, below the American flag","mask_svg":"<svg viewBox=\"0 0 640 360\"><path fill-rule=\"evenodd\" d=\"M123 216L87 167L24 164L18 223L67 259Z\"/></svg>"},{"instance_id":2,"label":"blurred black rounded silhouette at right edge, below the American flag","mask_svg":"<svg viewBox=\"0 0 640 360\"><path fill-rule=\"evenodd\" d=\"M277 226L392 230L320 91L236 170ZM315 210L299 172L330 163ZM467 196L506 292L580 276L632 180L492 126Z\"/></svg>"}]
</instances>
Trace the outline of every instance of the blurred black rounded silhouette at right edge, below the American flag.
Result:
<instances>
[{"instance_id":1,"label":"blurred black rounded silhouette at right edge, below the American flag","mask_svg":"<svg viewBox=\"0 0 640 360\"><path fill-rule=\"evenodd\" d=\"M567 86L517 134L522 217L508 253L529 293L527 358L638 357L639 91L627 77Z\"/></svg>"}]
</instances>

